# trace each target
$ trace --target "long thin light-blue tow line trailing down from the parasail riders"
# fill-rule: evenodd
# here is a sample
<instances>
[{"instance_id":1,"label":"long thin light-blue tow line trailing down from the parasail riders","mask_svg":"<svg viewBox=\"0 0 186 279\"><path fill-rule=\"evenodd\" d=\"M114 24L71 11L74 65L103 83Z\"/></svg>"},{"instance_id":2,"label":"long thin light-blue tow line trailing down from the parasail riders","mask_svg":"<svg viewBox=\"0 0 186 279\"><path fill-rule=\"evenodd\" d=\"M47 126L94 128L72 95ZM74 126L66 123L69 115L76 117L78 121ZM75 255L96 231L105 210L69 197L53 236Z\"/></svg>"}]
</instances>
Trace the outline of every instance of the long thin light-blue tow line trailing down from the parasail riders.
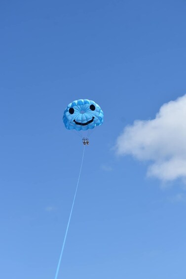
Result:
<instances>
[{"instance_id":1,"label":"long thin light-blue tow line trailing down from the parasail riders","mask_svg":"<svg viewBox=\"0 0 186 279\"><path fill-rule=\"evenodd\" d=\"M77 193L77 188L78 188L78 184L79 184L79 178L80 178L81 169L82 169L82 165L83 165L84 151L85 151L85 146L84 146L84 148L83 148L83 156L82 156L82 160L81 160L81 166L80 166L80 170L79 170L79 176L78 176L77 185L76 185L76 189L75 189L74 200L73 200L73 204L72 204L72 208L71 208L71 213L70 213L70 215L69 215L69 221L68 221L68 224L67 224L67 229L66 229L66 233L65 233L65 238L64 238L64 240L63 240L63 246L62 246L61 254L60 254L60 257L59 257L59 262L58 262L58 266L57 266L57 270L56 270L55 279L57 279L57 277L58 277L59 268L60 268L60 265L61 265L61 259L62 259L62 255L63 255L63 250L64 250L64 247L65 247L65 242L66 242L66 238L67 238L67 233L68 233L69 225L70 225L70 222L71 222L71 216L72 216L72 212L73 212L74 201L75 201L75 197L76 197L76 193Z\"/></svg>"}]
</instances>

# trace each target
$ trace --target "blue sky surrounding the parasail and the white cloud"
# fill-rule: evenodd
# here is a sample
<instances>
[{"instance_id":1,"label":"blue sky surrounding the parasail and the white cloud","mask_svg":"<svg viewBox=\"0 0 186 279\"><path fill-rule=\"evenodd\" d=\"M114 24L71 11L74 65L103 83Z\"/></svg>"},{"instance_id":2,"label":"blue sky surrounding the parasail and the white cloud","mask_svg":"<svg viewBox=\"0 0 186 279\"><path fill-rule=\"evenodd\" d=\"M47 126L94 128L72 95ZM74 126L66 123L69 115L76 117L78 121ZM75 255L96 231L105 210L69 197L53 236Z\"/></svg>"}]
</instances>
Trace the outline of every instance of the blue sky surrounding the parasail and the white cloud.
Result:
<instances>
[{"instance_id":1,"label":"blue sky surrounding the parasail and the white cloud","mask_svg":"<svg viewBox=\"0 0 186 279\"><path fill-rule=\"evenodd\" d=\"M1 1L0 278L55 276L83 149L62 117L81 98L105 121L85 150L59 278L186 278L185 175L148 176L161 155L139 157L137 137L126 149L123 130L138 136L135 120L186 94L185 15L185 0Z\"/></svg>"}]
</instances>

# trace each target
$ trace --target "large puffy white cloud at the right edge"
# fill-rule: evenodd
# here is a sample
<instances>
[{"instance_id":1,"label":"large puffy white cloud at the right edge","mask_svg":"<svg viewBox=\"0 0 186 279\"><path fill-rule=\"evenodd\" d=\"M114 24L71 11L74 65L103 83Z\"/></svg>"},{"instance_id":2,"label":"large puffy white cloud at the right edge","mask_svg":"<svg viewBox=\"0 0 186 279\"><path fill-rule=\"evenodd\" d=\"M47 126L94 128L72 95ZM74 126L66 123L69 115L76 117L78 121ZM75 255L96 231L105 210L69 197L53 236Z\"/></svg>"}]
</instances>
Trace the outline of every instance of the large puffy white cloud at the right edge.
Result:
<instances>
[{"instance_id":1,"label":"large puffy white cloud at the right edge","mask_svg":"<svg viewBox=\"0 0 186 279\"><path fill-rule=\"evenodd\" d=\"M186 95L164 104L155 119L126 126L117 138L116 153L148 160L148 176L186 178Z\"/></svg>"}]
</instances>

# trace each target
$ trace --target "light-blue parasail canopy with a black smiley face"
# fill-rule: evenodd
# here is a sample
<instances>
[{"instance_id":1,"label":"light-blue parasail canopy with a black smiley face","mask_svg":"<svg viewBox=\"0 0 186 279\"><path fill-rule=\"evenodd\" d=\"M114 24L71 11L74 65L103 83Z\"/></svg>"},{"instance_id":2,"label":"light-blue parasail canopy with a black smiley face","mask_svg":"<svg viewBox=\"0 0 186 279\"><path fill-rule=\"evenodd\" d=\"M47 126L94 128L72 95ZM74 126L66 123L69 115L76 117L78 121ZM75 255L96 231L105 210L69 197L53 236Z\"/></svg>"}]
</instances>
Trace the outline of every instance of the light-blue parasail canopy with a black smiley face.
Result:
<instances>
[{"instance_id":1,"label":"light-blue parasail canopy with a black smiley face","mask_svg":"<svg viewBox=\"0 0 186 279\"><path fill-rule=\"evenodd\" d=\"M103 111L94 101L80 99L67 106L63 122L69 130L88 130L101 125L103 116Z\"/></svg>"}]
</instances>

